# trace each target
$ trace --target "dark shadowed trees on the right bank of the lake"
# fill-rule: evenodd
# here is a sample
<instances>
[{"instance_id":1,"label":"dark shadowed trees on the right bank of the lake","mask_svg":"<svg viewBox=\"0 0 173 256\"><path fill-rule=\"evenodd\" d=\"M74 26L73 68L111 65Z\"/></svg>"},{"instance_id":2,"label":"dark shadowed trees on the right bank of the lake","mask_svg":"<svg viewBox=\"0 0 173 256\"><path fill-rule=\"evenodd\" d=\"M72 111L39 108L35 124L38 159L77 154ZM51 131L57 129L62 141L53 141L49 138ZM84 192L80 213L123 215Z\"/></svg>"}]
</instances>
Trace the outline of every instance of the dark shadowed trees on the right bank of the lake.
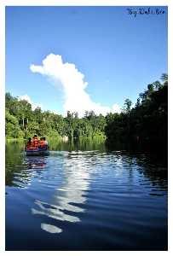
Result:
<instances>
[{"instance_id":1,"label":"dark shadowed trees on the right bank of the lake","mask_svg":"<svg viewBox=\"0 0 173 256\"><path fill-rule=\"evenodd\" d=\"M132 143L148 148L167 148L168 136L168 76L164 81L147 85L140 94L136 107L130 109L129 99L124 102L123 113L107 115L106 136L108 143Z\"/></svg>"}]
</instances>

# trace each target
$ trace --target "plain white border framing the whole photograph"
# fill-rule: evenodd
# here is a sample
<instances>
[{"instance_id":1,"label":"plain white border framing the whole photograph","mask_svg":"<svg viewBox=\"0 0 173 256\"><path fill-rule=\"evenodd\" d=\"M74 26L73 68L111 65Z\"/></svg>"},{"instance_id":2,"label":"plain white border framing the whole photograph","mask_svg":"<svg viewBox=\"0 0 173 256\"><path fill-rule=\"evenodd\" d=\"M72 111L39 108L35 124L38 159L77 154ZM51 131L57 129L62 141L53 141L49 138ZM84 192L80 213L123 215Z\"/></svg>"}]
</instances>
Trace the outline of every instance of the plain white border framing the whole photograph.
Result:
<instances>
[{"instance_id":1,"label":"plain white border framing the whole photograph","mask_svg":"<svg viewBox=\"0 0 173 256\"><path fill-rule=\"evenodd\" d=\"M1 75L0 75L0 138L1 138L1 147L0 147L0 209L1 209L1 214L0 214L0 253L3 255L5 254L11 254L13 255L21 255L24 252L20 251L15 251L15 252L10 252L10 251L5 251L5 100L4 100L4 95L5 95L5 7L6 6L168 6L168 74L169 74L169 143L168 143L168 148L169 148L169 161L168 161L168 170L169 170L169 176L168 176L168 185L169 185L169 196L168 196L168 229L169 229L169 237L168 237L168 252L146 252L146 251L130 251L130 252L124 252L124 251L116 251L119 255L124 255L128 253L128 255L134 255L134 254L144 254L144 253L152 253L156 254L157 256L163 253L171 253L172 252L172 246L171 246L171 241L172 241L172 236L171 232L173 231L172 229L172 220L171 216L173 216L173 211L172 211L172 206L171 206L171 180L172 178L172 173L171 173L171 166L172 166L172 161L171 161L171 143L172 143L172 135L171 131L173 131L173 122L172 122L172 100L171 96L173 96L173 87L172 87L172 77L173 77L173 72L170 70L170 67L173 67L173 50L172 50L172 24L173 24L173 8L172 8L172 3L171 1L164 1L164 0L136 0L136 1L130 1L130 0L1 0L0 2L0 38L1 38L1 47L0 47L0 70ZM171 73L172 72L172 73ZM25 253L28 255L32 253L32 251L25 251ZM47 253L51 253L52 255L57 253L56 251L54 252L37 252L40 255L47 255ZM80 251L73 251L73 252L59 252L61 255L66 255L66 254L73 254L73 255L86 255L86 254L99 254L103 255L105 253L114 254L114 251L110 252L102 252L102 251L89 251L89 252L80 252Z\"/></svg>"}]
</instances>

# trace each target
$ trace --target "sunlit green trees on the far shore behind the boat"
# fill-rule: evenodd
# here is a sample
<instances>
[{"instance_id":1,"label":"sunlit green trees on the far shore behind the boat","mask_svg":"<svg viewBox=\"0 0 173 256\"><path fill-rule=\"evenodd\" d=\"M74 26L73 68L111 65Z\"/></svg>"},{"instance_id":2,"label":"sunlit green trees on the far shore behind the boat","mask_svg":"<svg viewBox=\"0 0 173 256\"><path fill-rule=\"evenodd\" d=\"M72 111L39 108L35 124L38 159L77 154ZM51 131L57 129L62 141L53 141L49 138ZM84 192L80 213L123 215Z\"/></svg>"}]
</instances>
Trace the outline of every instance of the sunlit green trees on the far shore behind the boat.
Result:
<instances>
[{"instance_id":1,"label":"sunlit green trees on the far shore behind the boat","mask_svg":"<svg viewBox=\"0 0 173 256\"><path fill-rule=\"evenodd\" d=\"M104 137L106 120L101 114L89 112L79 119L78 113L61 114L43 112L41 108L32 110L32 105L24 100L19 101L6 93L6 137Z\"/></svg>"}]
</instances>

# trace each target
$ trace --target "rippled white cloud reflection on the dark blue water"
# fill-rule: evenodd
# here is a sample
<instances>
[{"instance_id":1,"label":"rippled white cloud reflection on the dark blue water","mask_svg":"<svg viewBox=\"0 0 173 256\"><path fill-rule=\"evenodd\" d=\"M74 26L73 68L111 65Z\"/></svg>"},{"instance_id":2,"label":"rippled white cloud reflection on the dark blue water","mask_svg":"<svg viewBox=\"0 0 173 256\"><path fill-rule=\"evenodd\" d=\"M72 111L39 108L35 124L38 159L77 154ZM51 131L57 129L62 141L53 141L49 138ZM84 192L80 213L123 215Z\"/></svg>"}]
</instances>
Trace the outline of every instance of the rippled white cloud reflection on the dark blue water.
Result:
<instances>
[{"instance_id":1,"label":"rippled white cloud reflection on the dark blue water","mask_svg":"<svg viewBox=\"0 0 173 256\"><path fill-rule=\"evenodd\" d=\"M45 215L58 221L79 222L80 218L76 216L76 213L84 212L81 204L86 201L85 195L87 189L89 189L90 174L86 170L87 166L87 159L83 154L69 153L66 155L62 165L63 183L61 187L55 189L51 203L36 200L35 204L39 209L32 208L32 214ZM60 233L62 231L55 225L45 223L41 224L41 229L49 233Z\"/></svg>"}]
</instances>

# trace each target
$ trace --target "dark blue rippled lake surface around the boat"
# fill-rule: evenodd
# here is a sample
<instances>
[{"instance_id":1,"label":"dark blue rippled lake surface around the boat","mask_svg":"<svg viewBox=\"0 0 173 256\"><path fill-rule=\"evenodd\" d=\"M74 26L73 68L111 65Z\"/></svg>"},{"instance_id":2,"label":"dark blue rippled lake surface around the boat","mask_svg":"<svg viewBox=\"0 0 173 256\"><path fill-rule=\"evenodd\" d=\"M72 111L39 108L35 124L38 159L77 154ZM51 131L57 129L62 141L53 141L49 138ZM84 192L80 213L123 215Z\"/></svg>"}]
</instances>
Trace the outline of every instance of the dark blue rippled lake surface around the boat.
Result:
<instances>
[{"instance_id":1,"label":"dark blue rippled lake surface around the boat","mask_svg":"<svg viewBox=\"0 0 173 256\"><path fill-rule=\"evenodd\" d=\"M167 167L157 155L61 143L6 146L6 250L166 250Z\"/></svg>"}]
</instances>

